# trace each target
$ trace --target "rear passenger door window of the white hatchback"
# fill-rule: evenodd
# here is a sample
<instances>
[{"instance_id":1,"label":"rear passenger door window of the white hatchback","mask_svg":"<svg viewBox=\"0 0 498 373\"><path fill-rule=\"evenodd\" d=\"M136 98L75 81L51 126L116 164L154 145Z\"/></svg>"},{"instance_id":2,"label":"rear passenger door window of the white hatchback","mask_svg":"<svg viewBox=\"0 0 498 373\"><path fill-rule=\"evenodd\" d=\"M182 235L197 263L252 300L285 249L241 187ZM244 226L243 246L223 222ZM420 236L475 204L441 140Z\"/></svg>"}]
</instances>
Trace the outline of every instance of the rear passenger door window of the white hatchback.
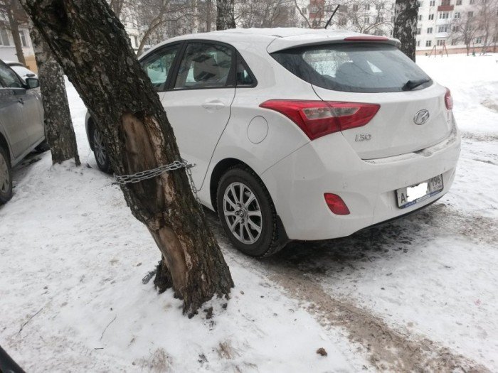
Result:
<instances>
[{"instance_id":1,"label":"rear passenger door window of the white hatchback","mask_svg":"<svg viewBox=\"0 0 498 373\"><path fill-rule=\"evenodd\" d=\"M233 51L225 45L189 43L174 89L226 87L231 83Z\"/></svg>"}]
</instances>

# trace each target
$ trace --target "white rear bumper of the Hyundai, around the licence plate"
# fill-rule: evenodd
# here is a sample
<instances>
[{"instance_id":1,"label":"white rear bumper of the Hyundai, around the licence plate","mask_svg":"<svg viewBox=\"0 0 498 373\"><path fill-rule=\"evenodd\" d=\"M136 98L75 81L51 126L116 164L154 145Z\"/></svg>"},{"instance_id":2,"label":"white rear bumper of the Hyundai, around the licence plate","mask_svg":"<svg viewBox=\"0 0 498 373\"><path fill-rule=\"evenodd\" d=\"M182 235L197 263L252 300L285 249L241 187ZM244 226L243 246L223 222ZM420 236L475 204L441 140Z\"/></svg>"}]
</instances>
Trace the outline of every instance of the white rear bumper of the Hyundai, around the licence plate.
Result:
<instances>
[{"instance_id":1,"label":"white rear bumper of the Hyundai, around the licence plate","mask_svg":"<svg viewBox=\"0 0 498 373\"><path fill-rule=\"evenodd\" d=\"M439 144L401 156L361 160L341 134L312 141L263 173L277 214L290 239L349 236L434 202L450 189L460 156L456 126ZM396 189L443 175L444 189L413 206L399 208ZM334 215L324 193L335 193L350 215Z\"/></svg>"}]
</instances>

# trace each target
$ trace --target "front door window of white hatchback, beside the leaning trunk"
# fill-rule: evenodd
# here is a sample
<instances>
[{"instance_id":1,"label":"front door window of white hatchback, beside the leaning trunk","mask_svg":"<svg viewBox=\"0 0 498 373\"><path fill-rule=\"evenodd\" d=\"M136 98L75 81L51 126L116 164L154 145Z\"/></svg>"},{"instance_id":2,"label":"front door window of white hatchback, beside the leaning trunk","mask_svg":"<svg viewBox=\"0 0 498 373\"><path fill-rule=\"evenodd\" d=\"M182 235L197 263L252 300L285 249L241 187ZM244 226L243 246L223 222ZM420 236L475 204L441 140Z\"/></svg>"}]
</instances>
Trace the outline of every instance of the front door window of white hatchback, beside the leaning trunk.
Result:
<instances>
[{"instance_id":1,"label":"front door window of white hatchback, beside the leaning trunk","mask_svg":"<svg viewBox=\"0 0 498 373\"><path fill-rule=\"evenodd\" d=\"M178 50L179 45L164 48L153 52L152 55L147 56L141 62L142 68L149 75L152 86L157 92L166 90L166 79L168 78L169 70L173 66L173 61Z\"/></svg>"}]
</instances>

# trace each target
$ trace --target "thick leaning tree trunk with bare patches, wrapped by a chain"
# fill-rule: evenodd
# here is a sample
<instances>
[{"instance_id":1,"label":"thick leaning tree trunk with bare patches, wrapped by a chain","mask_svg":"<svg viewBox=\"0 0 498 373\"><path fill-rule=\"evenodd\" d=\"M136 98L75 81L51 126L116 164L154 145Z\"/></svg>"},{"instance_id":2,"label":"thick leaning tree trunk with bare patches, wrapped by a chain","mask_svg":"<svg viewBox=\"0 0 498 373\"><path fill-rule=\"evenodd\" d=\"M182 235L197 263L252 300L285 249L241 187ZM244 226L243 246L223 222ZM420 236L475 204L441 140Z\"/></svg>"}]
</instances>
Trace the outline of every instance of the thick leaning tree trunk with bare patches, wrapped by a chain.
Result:
<instances>
[{"instance_id":1,"label":"thick leaning tree trunk with bare patches, wrapped by a chain","mask_svg":"<svg viewBox=\"0 0 498 373\"><path fill-rule=\"evenodd\" d=\"M104 0L21 0L104 135L118 175L180 159L159 96L124 26ZM194 134L193 134L194 135ZM154 237L184 313L233 287L228 266L183 169L121 186L132 214Z\"/></svg>"}]
</instances>

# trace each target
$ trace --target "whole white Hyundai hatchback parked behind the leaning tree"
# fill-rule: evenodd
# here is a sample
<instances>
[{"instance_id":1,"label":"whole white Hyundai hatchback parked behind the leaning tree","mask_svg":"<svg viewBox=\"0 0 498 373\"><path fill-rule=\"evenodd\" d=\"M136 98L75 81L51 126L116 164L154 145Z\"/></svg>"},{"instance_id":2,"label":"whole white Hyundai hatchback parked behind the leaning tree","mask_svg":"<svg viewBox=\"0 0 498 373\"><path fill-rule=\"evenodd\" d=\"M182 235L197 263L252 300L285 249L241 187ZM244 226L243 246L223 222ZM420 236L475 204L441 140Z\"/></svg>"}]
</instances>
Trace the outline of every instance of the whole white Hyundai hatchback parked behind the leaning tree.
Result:
<instances>
[{"instance_id":1,"label":"whole white Hyundai hatchback parked behind the leaning tree","mask_svg":"<svg viewBox=\"0 0 498 373\"><path fill-rule=\"evenodd\" d=\"M252 256L434 202L460 154L452 98L398 40L300 28L172 38L139 60L198 197ZM87 116L98 166L109 161Z\"/></svg>"}]
</instances>

